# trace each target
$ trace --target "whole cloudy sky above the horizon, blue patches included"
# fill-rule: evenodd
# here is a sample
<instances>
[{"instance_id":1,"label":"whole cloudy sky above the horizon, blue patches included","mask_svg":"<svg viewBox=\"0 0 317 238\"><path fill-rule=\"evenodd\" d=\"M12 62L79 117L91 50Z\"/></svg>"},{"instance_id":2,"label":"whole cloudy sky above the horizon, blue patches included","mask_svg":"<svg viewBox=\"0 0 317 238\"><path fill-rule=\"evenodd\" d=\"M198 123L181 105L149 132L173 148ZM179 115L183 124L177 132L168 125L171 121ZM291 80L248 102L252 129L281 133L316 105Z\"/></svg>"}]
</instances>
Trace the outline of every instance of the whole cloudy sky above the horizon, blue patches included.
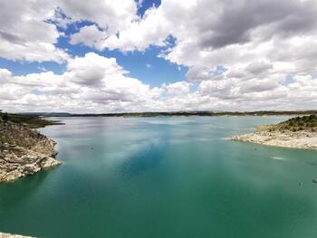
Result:
<instances>
[{"instance_id":1,"label":"whole cloudy sky above the horizon, blue patches included","mask_svg":"<svg viewBox=\"0 0 317 238\"><path fill-rule=\"evenodd\" d=\"M316 0L1 0L0 109L317 109Z\"/></svg>"}]
</instances>

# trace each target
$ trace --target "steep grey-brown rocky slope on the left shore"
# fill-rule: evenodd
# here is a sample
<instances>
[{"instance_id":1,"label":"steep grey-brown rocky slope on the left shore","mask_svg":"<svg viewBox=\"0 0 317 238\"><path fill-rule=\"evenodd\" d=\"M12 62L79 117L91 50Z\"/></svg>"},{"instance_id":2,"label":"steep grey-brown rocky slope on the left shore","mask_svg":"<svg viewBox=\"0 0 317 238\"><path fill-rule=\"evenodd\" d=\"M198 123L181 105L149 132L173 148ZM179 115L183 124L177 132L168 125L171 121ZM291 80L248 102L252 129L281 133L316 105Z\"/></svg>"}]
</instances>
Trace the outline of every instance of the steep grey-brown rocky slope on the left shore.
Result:
<instances>
[{"instance_id":1,"label":"steep grey-brown rocky slope on the left shore","mask_svg":"<svg viewBox=\"0 0 317 238\"><path fill-rule=\"evenodd\" d=\"M0 183L60 165L56 142L23 124L0 120Z\"/></svg>"}]
</instances>

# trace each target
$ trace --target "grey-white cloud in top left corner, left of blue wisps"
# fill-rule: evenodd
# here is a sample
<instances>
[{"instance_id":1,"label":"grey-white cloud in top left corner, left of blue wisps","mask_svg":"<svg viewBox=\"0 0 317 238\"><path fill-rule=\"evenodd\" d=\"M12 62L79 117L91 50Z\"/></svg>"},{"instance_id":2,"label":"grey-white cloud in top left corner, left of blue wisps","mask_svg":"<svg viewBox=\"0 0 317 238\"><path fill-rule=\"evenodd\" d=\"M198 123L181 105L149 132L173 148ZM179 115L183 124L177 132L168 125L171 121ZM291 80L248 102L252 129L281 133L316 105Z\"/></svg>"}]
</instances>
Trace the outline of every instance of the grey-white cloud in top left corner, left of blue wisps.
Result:
<instances>
[{"instance_id":1,"label":"grey-white cloud in top left corner, left of blue wisps","mask_svg":"<svg viewBox=\"0 0 317 238\"><path fill-rule=\"evenodd\" d=\"M63 62L68 55L57 49L60 36L53 24L50 1L0 1L0 57L10 60Z\"/></svg>"}]
</instances>

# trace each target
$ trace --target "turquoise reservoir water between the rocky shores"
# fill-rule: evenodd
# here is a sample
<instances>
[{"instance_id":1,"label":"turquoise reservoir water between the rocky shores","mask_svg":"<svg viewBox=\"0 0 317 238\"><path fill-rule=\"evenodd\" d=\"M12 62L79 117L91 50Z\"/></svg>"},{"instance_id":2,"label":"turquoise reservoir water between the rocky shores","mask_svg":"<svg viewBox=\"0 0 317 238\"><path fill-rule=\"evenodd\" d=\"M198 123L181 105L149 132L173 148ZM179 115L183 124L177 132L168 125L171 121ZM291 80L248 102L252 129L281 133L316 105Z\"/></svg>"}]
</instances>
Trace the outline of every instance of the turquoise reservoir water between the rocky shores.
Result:
<instances>
[{"instance_id":1,"label":"turquoise reservoir water between the rocky shores","mask_svg":"<svg viewBox=\"0 0 317 238\"><path fill-rule=\"evenodd\" d=\"M227 139L283 117L65 118L64 164L0 185L0 231L317 237L317 151Z\"/></svg>"}]
</instances>

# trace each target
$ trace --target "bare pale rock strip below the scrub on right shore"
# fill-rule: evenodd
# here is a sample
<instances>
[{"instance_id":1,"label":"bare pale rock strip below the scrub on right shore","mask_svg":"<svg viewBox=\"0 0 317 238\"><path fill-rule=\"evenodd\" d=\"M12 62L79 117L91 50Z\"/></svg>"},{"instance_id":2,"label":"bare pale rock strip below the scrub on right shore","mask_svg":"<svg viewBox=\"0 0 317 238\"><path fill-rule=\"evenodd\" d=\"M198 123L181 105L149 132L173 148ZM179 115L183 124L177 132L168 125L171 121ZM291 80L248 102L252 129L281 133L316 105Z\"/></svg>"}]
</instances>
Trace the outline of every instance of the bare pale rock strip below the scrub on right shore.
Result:
<instances>
[{"instance_id":1,"label":"bare pale rock strip below the scrub on right shore","mask_svg":"<svg viewBox=\"0 0 317 238\"><path fill-rule=\"evenodd\" d=\"M234 140L241 140L262 144L266 146L284 148L311 148L317 149L316 131L255 131L254 133L232 137Z\"/></svg>"}]
</instances>

